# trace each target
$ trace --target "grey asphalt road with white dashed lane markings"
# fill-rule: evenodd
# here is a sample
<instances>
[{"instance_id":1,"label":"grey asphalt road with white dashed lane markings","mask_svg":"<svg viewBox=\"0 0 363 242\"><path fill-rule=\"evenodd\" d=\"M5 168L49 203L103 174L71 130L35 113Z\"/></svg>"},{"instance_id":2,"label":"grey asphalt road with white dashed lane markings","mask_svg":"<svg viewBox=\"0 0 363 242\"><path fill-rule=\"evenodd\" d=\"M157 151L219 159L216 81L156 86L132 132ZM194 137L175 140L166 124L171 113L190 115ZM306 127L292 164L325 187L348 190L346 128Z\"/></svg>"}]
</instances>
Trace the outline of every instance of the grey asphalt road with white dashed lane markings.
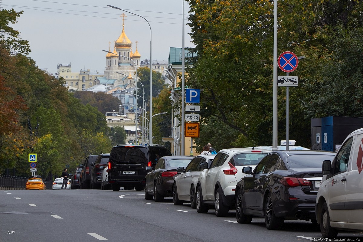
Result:
<instances>
[{"instance_id":1,"label":"grey asphalt road with white dashed lane markings","mask_svg":"<svg viewBox=\"0 0 363 242\"><path fill-rule=\"evenodd\" d=\"M311 222L285 221L268 230L263 218L236 223L234 210L199 214L171 198L155 203L134 190L0 190L0 242L225 242L298 241L320 237ZM359 236L362 233L339 233Z\"/></svg>"}]
</instances>

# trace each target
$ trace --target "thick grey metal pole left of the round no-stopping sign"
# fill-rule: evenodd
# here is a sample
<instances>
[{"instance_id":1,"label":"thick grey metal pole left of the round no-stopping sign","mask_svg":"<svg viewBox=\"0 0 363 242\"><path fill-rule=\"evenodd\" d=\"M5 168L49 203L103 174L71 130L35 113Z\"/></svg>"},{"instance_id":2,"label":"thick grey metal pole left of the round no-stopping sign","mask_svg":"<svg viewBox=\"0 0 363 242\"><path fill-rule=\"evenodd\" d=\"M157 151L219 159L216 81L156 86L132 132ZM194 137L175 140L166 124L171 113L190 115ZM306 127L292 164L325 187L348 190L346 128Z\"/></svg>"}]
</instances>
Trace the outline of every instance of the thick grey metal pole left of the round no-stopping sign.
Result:
<instances>
[{"instance_id":1,"label":"thick grey metal pole left of the round no-stopping sign","mask_svg":"<svg viewBox=\"0 0 363 242\"><path fill-rule=\"evenodd\" d=\"M273 25L272 150L277 151L277 0L274 0L274 25Z\"/></svg>"}]
</instances>

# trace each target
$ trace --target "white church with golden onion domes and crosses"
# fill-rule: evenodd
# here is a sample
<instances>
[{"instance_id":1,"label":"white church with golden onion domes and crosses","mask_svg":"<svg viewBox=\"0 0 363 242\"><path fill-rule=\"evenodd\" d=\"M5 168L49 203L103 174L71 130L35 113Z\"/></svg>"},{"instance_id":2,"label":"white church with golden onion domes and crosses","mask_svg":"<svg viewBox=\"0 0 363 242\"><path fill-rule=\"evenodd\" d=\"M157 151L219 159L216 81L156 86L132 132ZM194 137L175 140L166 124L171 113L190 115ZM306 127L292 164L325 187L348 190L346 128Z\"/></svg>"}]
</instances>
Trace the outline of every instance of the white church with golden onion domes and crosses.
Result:
<instances>
[{"instance_id":1,"label":"white church with golden onion domes and crosses","mask_svg":"<svg viewBox=\"0 0 363 242\"><path fill-rule=\"evenodd\" d=\"M114 41L113 53L106 54L106 69L104 77L100 78L101 84L107 87L123 87L124 89L135 88L135 71L140 67L140 53L136 41L135 53L132 53L132 43L125 33L125 14L122 14L122 32ZM111 52L111 42L109 51ZM118 73L117 73L118 72ZM122 74L119 74L122 73Z\"/></svg>"}]
</instances>

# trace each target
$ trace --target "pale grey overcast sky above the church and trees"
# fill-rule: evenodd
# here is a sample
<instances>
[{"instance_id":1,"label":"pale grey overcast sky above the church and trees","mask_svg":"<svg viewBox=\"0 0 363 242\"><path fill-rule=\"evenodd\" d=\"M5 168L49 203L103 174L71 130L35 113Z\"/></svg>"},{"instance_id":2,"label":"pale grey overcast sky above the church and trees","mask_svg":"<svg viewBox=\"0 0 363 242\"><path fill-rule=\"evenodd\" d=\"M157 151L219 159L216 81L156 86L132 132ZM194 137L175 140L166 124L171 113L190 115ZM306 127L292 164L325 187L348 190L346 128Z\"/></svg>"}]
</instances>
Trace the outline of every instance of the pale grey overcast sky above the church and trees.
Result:
<instances>
[{"instance_id":1,"label":"pale grey overcast sky above the church and trees","mask_svg":"<svg viewBox=\"0 0 363 242\"><path fill-rule=\"evenodd\" d=\"M59 63L71 63L72 71L90 69L103 72L106 52L122 32L135 52L138 41L140 60L150 59L150 28L141 17L107 7L112 5L143 16L151 25L152 60L167 62L170 47L182 47L183 0L0 0L4 9L24 11L12 27L30 43L31 57L39 68L57 72ZM192 47L188 20L189 5L184 1L185 47Z\"/></svg>"}]
</instances>

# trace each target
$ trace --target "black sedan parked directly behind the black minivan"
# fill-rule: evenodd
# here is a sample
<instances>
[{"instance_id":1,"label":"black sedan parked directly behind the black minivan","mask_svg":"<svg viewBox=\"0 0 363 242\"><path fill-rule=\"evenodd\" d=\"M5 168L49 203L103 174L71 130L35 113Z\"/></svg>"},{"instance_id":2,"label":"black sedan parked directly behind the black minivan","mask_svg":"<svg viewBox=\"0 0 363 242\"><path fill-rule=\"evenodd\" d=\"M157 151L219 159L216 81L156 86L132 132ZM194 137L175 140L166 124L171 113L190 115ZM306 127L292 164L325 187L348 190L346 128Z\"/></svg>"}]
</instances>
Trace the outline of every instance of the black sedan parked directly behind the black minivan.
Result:
<instances>
[{"instance_id":1,"label":"black sedan parked directly behind the black minivan","mask_svg":"<svg viewBox=\"0 0 363 242\"><path fill-rule=\"evenodd\" d=\"M176 171L178 167L187 167L194 156L163 156L158 160L155 169L146 167L145 177L145 199L155 202L163 201L164 197L173 195L173 182L175 176L179 175Z\"/></svg>"}]
</instances>

